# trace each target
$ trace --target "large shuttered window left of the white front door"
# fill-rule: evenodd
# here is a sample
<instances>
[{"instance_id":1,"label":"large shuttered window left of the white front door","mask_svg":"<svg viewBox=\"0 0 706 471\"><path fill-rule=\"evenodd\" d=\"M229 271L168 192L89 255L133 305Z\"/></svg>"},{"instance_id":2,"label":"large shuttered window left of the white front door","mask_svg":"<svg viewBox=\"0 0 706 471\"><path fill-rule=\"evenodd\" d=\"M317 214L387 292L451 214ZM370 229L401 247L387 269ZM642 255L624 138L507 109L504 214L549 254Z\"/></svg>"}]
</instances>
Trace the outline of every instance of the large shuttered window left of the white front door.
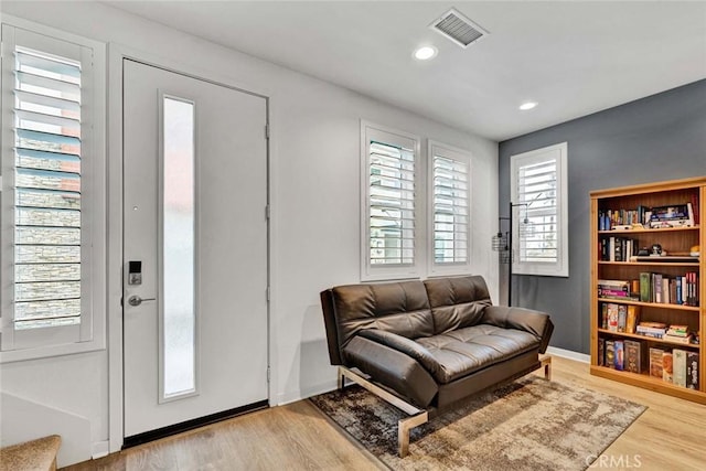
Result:
<instances>
[{"instance_id":1,"label":"large shuttered window left of the white front door","mask_svg":"<svg viewBox=\"0 0 706 471\"><path fill-rule=\"evenodd\" d=\"M98 208L86 197L97 194L85 190L88 169L99 161L87 92L96 89L93 50L7 24L2 47L6 355L93 340L88 275L100 226L88 216Z\"/></svg>"}]
</instances>

